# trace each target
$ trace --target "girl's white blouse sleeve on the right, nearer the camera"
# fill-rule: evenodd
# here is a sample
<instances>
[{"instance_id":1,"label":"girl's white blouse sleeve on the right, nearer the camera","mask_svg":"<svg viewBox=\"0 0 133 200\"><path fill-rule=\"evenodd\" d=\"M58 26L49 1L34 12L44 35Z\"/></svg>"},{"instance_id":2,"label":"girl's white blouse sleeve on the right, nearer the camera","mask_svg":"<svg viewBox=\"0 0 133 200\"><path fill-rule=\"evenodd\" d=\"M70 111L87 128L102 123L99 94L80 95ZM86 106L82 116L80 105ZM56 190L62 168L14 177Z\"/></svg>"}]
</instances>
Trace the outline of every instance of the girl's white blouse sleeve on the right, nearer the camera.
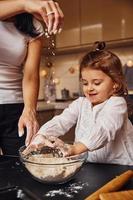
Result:
<instances>
[{"instance_id":1,"label":"girl's white blouse sleeve on the right, nearer the camera","mask_svg":"<svg viewBox=\"0 0 133 200\"><path fill-rule=\"evenodd\" d=\"M124 125L127 117L127 104L124 98L112 99L107 102L102 112L92 120L92 129L80 140L90 151L102 148L111 140L115 140L116 134Z\"/></svg>"}]
</instances>

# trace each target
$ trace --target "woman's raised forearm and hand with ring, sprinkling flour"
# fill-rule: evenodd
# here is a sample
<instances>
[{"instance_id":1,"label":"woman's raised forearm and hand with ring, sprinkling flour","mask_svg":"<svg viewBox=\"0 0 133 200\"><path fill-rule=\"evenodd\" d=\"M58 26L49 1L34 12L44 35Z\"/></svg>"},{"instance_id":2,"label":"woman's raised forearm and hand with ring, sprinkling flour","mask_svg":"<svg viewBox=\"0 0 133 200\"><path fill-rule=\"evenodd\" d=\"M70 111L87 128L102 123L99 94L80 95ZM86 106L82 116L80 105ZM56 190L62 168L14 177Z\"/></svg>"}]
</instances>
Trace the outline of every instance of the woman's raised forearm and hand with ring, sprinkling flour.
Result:
<instances>
[{"instance_id":1,"label":"woman's raised forearm and hand with ring, sprinkling flour","mask_svg":"<svg viewBox=\"0 0 133 200\"><path fill-rule=\"evenodd\" d=\"M52 0L0 0L0 20L5 20L24 12L44 21L50 34L56 34L62 29L63 12L58 3Z\"/></svg>"}]
</instances>

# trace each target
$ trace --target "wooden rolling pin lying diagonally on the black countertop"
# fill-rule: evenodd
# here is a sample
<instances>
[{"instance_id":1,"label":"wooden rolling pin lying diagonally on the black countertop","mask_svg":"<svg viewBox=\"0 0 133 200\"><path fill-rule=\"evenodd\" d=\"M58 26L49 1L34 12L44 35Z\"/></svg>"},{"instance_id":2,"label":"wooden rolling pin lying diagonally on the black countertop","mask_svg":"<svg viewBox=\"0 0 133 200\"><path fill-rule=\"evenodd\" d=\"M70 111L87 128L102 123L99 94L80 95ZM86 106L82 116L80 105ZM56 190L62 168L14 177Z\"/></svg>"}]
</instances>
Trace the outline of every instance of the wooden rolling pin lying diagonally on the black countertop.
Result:
<instances>
[{"instance_id":1,"label":"wooden rolling pin lying diagonally on the black countertop","mask_svg":"<svg viewBox=\"0 0 133 200\"><path fill-rule=\"evenodd\" d=\"M133 171L128 170L124 172L123 174L117 176L116 178L108 182L107 184L105 184L99 190L97 190L96 192L88 196L85 200L99 200L99 195L101 193L115 192L119 190L132 177L133 177Z\"/></svg>"}]
</instances>

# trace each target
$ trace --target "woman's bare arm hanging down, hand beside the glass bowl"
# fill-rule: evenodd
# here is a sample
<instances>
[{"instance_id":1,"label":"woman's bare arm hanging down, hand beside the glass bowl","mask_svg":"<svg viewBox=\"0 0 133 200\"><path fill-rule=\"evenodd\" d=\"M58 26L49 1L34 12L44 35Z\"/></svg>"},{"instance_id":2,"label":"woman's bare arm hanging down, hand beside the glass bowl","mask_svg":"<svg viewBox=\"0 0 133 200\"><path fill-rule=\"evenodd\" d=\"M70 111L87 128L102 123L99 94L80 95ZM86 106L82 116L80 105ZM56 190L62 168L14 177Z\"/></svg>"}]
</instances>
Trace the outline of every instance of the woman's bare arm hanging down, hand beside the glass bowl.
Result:
<instances>
[{"instance_id":1,"label":"woman's bare arm hanging down, hand beside the glass bowl","mask_svg":"<svg viewBox=\"0 0 133 200\"><path fill-rule=\"evenodd\" d=\"M26 145L38 131L36 119L36 105L39 91L39 64L42 49L42 37L29 43L27 59L24 66L23 99L24 110L19 119L19 135L23 135L24 127L27 129Z\"/></svg>"}]
</instances>

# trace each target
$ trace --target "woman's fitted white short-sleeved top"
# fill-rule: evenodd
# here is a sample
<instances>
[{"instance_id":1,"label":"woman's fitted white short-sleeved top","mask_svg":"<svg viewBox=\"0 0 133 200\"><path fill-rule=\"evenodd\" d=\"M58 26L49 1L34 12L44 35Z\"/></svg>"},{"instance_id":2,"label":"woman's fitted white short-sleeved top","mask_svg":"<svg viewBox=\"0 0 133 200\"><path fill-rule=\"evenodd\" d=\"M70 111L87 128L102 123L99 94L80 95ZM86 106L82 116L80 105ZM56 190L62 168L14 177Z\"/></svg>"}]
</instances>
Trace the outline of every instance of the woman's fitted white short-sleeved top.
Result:
<instances>
[{"instance_id":1,"label":"woman's fitted white short-sleeved top","mask_svg":"<svg viewBox=\"0 0 133 200\"><path fill-rule=\"evenodd\" d=\"M37 37L44 34L39 21L33 21ZM13 22L0 21L0 104L23 102L23 64L28 44L35 38L23 34Z\"/></svg>"}]
</instances>

